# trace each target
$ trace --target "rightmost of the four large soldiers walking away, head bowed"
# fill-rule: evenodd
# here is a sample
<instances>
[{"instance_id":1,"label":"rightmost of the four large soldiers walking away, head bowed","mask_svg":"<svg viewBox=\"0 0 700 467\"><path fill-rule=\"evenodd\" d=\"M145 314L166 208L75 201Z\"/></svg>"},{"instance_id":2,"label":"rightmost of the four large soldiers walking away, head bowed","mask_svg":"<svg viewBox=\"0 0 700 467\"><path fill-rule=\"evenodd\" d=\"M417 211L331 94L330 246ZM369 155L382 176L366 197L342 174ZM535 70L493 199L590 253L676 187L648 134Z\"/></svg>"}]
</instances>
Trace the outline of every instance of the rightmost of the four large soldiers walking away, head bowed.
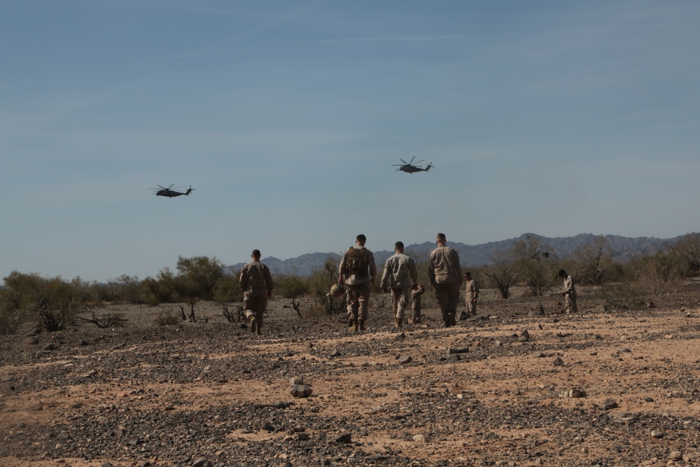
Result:
<instances>
[{"instance_id":1,"label":"rightmost of the four large soldiers walking away, head bowed","mask_svg":"<svg viewBox=\"0 0 700 467\"><path fill-rule=\"evenodd\" d=\"M447 246L447 237L439 233L435 237L437 248L428 258L428 279L435 287L435 298L440 304L444 326L455 326L454 317L457 314L459 288L462 285L462 267L459 256L454 249Z\"/></svg>"}]
</instances>

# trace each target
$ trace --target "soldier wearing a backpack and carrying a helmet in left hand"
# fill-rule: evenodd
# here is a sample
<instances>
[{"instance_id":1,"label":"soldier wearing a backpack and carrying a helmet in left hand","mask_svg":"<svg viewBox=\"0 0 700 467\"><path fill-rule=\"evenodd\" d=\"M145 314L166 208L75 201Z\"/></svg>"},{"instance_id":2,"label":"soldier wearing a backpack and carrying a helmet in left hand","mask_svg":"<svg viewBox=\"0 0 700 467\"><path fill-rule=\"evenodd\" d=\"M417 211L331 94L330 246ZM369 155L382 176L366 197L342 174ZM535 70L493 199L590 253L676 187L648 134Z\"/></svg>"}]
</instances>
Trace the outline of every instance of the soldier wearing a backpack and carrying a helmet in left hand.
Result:
<instances>
[{"instance_id":1,"label":"soldier wearing a backpack and carrying a helmet in left hand","mask_svg":"<svg viewBox=\"0 0 700 467\"><path fill-rule=\"evenodd\" d=\"M347 289L348 323L355 332L365 330L370 288L377 277L374 255L365 248L365 242L367 237L358 235L355 245L343 253L338 267L338 284L345 284Z\"/></svg>"}]
</instances>

